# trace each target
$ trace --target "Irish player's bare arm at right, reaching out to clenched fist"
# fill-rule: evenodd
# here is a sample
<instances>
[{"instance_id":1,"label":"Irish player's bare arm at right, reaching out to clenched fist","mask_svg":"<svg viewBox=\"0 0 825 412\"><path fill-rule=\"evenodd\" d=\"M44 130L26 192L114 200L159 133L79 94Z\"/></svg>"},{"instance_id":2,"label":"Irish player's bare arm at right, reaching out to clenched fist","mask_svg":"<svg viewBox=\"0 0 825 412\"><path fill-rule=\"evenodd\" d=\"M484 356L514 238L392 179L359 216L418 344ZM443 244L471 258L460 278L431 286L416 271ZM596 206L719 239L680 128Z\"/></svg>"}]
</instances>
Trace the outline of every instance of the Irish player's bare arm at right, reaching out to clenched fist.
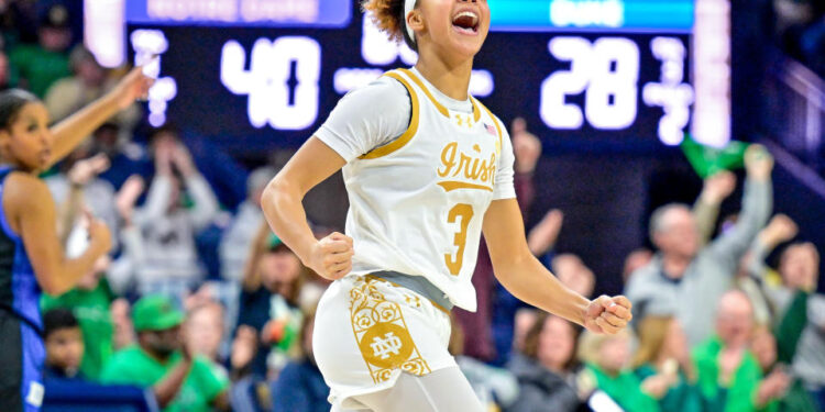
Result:
<instances>
[{"instance_id":1,"label":"Irish player's bare arm at right, reaching out to clenched fist","mask_svg":"<svg viewBox=\"0 0 825 412\"><path fill-rule=\"evenodd\" d=\"M516 199L494 200L484 214L484 238L495 276L516 298L578 323L614 334L632 318L625 297L588 300L568 289L530 253Z\"/></svg>"}]
</instances>

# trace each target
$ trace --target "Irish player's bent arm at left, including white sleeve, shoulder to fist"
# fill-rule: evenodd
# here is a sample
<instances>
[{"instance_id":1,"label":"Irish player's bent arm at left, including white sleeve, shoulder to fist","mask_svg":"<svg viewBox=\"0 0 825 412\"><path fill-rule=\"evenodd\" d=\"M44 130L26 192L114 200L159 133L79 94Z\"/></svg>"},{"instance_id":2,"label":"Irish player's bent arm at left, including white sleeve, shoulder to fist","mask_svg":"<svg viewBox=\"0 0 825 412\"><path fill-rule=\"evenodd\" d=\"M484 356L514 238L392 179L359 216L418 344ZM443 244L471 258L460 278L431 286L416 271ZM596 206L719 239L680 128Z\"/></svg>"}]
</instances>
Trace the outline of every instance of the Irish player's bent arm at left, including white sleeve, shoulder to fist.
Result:
<instances>
[{"instance_id":1,"label":"Irish player's bent arm at left, including white sleeve, shoulder to fist","mask_svg":"<svg viewBox=\"0 0 825 412\"><path fill-rule=\"evenodd\" d=\"M411 113L407 89L381 78L344 96L321 129L270 182L261 198L266 221L304 266L327 279L352 269L352 238L333 233L315 238L301 200L348 162L400 136Z\"/></svg>"}]
</instances>

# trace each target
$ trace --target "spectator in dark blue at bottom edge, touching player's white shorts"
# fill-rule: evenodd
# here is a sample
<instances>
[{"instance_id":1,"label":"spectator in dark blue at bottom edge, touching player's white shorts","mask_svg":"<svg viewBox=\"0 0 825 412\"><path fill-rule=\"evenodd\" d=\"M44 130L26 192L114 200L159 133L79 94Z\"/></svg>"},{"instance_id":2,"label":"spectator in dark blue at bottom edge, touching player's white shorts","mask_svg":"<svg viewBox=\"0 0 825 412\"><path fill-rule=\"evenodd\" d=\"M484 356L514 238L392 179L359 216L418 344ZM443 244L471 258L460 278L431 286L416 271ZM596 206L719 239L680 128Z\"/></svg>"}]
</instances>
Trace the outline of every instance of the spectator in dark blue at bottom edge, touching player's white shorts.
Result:
<instances>
[{"instance_id":1,"label":"spectator in dark blue at bottom edge, touching player's white shorts","mask_svg":"<svg viewBox=\"0 0 825 412\"><path fill-rule=\"evenodd\" d=\"M315 315L308 313L300 327L301 356L290 360L273 383L273 412L327 412L329 387L312 356Z\"/></svg>"}]
</instances>

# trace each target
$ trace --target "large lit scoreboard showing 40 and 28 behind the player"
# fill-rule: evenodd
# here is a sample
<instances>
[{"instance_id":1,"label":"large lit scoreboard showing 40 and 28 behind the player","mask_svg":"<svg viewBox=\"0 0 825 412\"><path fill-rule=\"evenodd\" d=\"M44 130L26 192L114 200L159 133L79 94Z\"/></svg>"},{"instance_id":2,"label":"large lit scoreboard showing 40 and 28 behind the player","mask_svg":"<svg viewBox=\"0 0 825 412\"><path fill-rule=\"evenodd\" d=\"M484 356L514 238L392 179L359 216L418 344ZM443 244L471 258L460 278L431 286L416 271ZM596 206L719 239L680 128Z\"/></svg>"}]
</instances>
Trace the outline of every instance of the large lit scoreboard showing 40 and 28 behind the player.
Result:
<instances>
[{"instance_id":1,"label":"large lit scoreboard showing 40 and 28 behind the player","mask_svg":"<svg viewBox=\"0 0 825 412\"><path fill-rule=\"evenodd\" d=\"M91 8L107 1L124 2L122 29L89 18L105 14ZM703 1L712 0L487 0L492 32L471 93L504 121L524 116L549 144L679 144L696 100L692 45ZM300 145L348 91L415 64L359 3L87 0L86 14L92 30L122 30L95 38L120 35L124 58L154 62L152 124L174 122L255 153Z\"/></svg>"}]
</instances>

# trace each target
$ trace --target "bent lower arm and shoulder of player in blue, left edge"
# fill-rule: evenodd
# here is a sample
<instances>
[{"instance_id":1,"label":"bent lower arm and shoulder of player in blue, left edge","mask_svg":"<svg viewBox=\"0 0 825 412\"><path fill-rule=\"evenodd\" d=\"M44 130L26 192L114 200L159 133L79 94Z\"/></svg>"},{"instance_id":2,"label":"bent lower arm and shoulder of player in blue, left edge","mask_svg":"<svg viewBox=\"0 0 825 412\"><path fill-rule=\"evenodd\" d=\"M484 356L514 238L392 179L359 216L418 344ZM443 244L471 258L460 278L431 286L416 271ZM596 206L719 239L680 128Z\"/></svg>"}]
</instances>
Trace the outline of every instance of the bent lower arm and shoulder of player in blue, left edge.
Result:
<instances>
[{"instance_id":1,"label":"bent lower arm and shoulder of player in blue, left edge","mask_svg":"<svg viewBox=\"0 0 825 412\"><path fill-rule=\"evenodd\" d=\"M57 237L56 211L52 193L43 180L23 172L12 172L3 185L3 210L11 230L23 240L34 275L43 291L63 294L91 270L95 261L111 248L106 224L89 224L89 247L69 259Z\"/></svg>"}]
</instances>

